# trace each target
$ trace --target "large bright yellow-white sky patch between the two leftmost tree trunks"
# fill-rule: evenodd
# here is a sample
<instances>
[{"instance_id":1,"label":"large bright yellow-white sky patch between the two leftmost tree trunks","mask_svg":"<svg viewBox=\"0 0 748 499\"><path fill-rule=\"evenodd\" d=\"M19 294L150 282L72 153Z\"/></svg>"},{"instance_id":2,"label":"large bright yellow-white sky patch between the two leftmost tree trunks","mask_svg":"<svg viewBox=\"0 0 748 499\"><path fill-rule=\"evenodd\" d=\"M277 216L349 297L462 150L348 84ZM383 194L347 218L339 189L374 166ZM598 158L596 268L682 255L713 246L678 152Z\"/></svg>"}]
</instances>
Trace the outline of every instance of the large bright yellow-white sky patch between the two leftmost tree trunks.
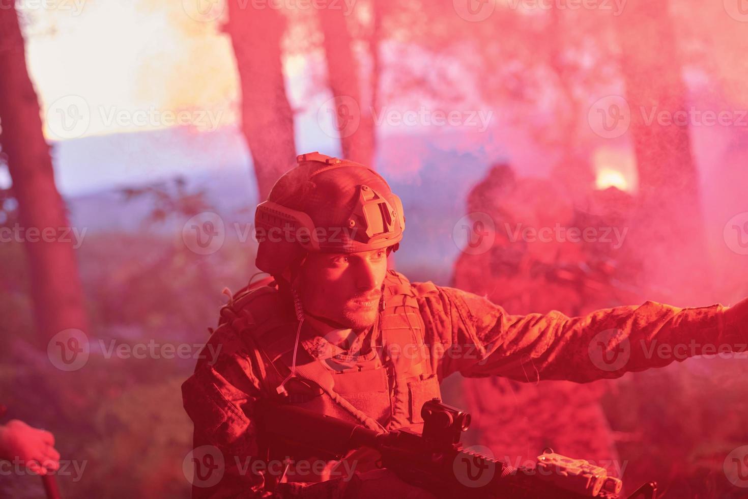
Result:
<instances>
[{"instance_id":1,"label":"large bright yellow-white sky patch between the two leftmost tree trunks","mask_svg":"<svg viewBox=\"0 0 748 499\"><path fill-rule=\"evenodd\" d=\"M236 121L218 21L196 21L178 1L44 1L20 0L19 10L50 140Z\"/></svg>"}]
</instances>

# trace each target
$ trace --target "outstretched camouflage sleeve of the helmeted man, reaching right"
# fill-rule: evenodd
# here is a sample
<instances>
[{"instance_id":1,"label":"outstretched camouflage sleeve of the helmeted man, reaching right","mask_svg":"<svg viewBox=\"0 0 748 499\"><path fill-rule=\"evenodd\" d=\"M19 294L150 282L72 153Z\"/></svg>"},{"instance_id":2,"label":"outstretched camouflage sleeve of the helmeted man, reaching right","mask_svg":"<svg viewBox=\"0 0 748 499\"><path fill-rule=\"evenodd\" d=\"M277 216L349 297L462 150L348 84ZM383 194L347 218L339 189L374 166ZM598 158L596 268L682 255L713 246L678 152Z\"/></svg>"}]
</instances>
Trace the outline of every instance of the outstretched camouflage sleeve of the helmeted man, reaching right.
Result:
<instances>
[{"instance_id":1,"label":"outstretched camouflage sleeve of the helmeted man, reaching right","mask_svg":"<svg viewBox=\"0 0 748 499\"><path fill-rule=\"evenodd\" d=\"M748 314L738 325L721 304L679 308L646 301L579 317L556 310L518 316L473 293L426 284L429 291L417 293L417 300L440 380L459 372L591 382L694 355L744 355L746 349Z\"/></svg>"}]
</instances>

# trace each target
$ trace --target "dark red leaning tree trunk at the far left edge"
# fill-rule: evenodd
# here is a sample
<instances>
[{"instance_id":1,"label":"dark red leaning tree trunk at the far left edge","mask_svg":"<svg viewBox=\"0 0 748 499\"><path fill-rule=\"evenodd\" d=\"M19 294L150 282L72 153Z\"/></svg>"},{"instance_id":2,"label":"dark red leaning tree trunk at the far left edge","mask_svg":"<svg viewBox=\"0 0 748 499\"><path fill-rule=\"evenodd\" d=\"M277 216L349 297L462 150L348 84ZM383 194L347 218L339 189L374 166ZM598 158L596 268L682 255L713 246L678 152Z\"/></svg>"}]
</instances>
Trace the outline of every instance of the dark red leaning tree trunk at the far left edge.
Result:
<instances>
[{"instance_id":1,"label":"dark red leaning tree trunk at the far left edge","mask_svg":"<svg viewBox=\"0 0 748 499\"><path fill-rule=\"evenodd\" d=\"M31 276L37 346L88 320L65 205L55 187L49 146L44 140L37 94L26 69L24 42L13 8L0 8L0 141L18 201L19 227ZM44 230L55 237L45 242ZM34 236L33 232L38 231ZM20 233L20 231L19 231ZM34 242L37 240L37 242Z\"/></svg>"}]
</instances>

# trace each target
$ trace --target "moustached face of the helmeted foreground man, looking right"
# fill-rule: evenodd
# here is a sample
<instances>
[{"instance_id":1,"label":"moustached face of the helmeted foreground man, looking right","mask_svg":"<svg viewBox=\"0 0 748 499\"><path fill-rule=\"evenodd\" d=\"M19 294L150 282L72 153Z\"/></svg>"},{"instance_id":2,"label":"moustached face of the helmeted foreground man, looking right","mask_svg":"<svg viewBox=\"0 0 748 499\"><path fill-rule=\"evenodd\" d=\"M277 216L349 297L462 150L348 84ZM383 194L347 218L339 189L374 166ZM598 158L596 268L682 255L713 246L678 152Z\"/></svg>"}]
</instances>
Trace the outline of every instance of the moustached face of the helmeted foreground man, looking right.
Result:
<instances>
[{"instance_id":1,"label":"moustached face of the helmeted foreground man, looking right","mask_svg":"<svg viewBox=\"0 0 748 499\"><path fill-rule=\"evenodd\" d=\"M301 266L299 294L304 308L316 316L344 328L368 328L379 312L386 274L386 249L312 253Z\"/></svg>"}]
</instances>

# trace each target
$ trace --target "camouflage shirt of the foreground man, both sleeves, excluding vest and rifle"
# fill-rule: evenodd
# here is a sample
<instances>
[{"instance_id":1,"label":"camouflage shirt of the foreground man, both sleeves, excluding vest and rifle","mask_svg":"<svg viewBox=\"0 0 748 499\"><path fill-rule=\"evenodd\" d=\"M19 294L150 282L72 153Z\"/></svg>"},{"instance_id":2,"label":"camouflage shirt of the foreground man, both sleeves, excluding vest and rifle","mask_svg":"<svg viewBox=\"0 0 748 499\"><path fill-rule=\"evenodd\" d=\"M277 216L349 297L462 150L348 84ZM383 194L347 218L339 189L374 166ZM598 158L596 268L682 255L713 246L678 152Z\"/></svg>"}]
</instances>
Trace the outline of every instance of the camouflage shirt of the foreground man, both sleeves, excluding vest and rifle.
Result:
<instances>
[{"instance_id":1,"label":"camouflage shirt of the foreground man, both sleeves, excluding vest and rifle","mask_svg":"<svg viewBox=\"0 0 748 499\"><path fill-rule=\"evenodd\" d=\"M378 422L390 429L417 426L422 422L418 414L419 403L432 395L438 396L438 382L452 373L459 372L468 377L503 376L520 382L526 382L528 375L534 379L591 382L672 362L673 358L649 357L647 349L638 347L640 342L651 344L657 340L657 343L672 345L693 339L699 344L727 343L729 334L735 333L723 328L726 307L720 304L681 309L647 301L638 307L614 307L574 318L556 311L518 316L462 290L431 283L411 285L404 276L393 271L387 276L386 286L399 286L399 296L411 298L408 301L417 308L417 317L412 318L418 319L411 328L414 340L422 341L429 352L435 352L424 359L432 368L433 377L423 376L423 373L411 376L406 385L405 407L401 406L402 398L396 394L397 383L393 374L397 370L389 365L390 361L382 361L380 369L388 376L387 402L370 409L370 414L378 416ZM276 304L283 306L278 293L273 293L271 288L262 291L267 297L275 296L268 301L278 300ZM247 294L251 293L257 291ZM274 480L269 473L249 473L246 463L248 459L263 456L258 444L261 435L258 435L252 417L253 405L263 397L278 397L274 388L288 373L287 368L280 369L286 352L273 363L260 351L261 342L253 334L257 324L253 323L252 317L262 316L263 310L271 307L267 301L258 303L254 300L247 300L244 307L237 307L242 301L240 298L236 296L221 310L223 325L209 340L212 350L206 347L206 359L209 358L208 352L219 352L215 363L206 359L198 361L194 375L183 385L185 409L194 422L194 447L212 445L220 450L225 462L221 481L210 487L195 486L194 498L257 497L263 483L267 486ZM292 317L289 306L289 303L285 304ZM590 350L590 345L595 345L595 335L610 329L619 331L610 340L610 351L625 343L630 345L628 361L620 367L604 364L604 355L597 356ZM284 337L293 336L292 328L274 331ZM325 331L316 331L315 328L304 331L301 345L310 358L324 357L334 351L325 349L324 336ZM371 337L376 337L376 331ZM270 364L275 364L275 367ZM280 372L275 373L276 368ZM327 397L321 391L307 387L289 388L289 391L296 391L299 400ZM320 407L331 406L320 403ZM337 411L335 415L345 415L342 414L344 411ZM354 419L351 414L348 417ZM585 437L580 435L579 438ZM282 456L283 450L278 450L276 455ZM334 462L330 463L326 470L331 471L334 465ZM370 465L370 462L368 465L359 462L357 469L367 469ZM356 486L355 476L349 481L337 478L303 488L281 484L276 493L285 497L343 497L346 490L351 494Z\"/></svg>"}]
</instances>

